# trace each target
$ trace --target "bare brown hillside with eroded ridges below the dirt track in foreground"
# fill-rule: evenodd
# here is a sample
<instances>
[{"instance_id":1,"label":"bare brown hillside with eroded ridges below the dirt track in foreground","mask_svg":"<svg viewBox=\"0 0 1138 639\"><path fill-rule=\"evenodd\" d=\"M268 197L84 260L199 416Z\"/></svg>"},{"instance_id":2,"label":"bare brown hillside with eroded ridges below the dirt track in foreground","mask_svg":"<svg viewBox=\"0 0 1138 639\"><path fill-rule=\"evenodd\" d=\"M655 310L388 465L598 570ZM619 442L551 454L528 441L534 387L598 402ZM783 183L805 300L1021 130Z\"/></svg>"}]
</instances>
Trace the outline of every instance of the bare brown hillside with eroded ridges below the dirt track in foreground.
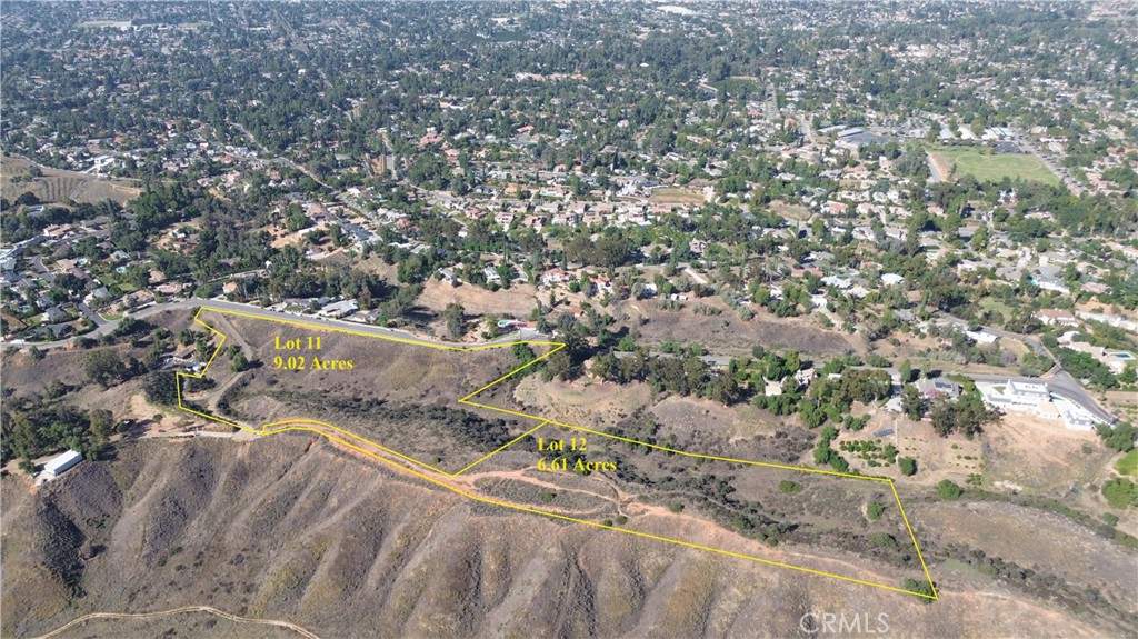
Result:
<instances>
[{"instance_id":1,"label":"bare brown hillside with eroded ridges below the dirt track in foreground","mask_svg":"<svg viewBox=\"0 0 1138 639\"><path fill-rule=\"evenodd\" d=\"M140 441L2 490L6 637L187 605L327 637L787 636L820 611L898 636L1103 632L998 586L925 605L476 505L299 434Z\"/></svg>"}]
</instances>

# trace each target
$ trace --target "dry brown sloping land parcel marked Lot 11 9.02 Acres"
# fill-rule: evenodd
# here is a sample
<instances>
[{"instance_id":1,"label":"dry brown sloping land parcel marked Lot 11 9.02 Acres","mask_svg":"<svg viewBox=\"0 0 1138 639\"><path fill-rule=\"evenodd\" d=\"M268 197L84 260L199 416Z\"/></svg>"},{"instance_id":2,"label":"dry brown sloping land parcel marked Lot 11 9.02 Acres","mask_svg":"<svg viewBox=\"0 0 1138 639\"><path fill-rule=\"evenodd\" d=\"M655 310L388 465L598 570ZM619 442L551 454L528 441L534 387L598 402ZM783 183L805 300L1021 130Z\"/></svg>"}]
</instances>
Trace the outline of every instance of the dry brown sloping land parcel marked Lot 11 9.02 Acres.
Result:
<instances>
[{"instance_id":1,"label":"dry brown sloping land parcel marked Lot 11 9.02 Acres","mask_svg":"<svg viewBox=\"0 0 1138 639\"><path fill-rule=\"evenodd\" d=\"M517 367L509 347L460 352L218 313L203 313L201 320L255 365L233 373L223 354L208 372L215 388L187 397L254 428L316 420L455 471L536 424L456 404ZM310 348L310 338L320 339L319 350ZM289 343L299 347L277 348ZM323 368L346 362L351 370ZM494 390L477 400L517 409L508 391Z\"/></svg>"}]
</instances>

